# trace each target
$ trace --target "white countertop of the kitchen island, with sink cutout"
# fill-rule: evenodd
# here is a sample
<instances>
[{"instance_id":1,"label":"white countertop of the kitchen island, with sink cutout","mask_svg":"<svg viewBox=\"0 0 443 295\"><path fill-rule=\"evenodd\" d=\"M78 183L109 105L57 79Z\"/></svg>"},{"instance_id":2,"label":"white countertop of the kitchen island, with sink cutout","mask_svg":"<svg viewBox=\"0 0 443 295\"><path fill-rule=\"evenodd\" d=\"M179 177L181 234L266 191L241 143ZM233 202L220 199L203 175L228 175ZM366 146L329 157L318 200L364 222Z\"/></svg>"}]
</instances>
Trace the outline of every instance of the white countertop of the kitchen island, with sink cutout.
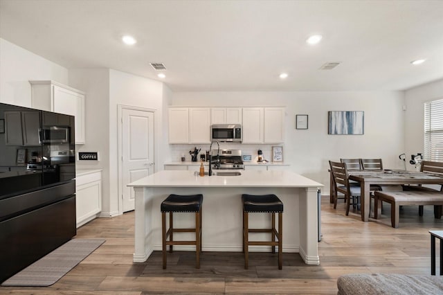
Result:
<instances>
[{"instance_id":1,"label":"white countertop of the kitchen island, with sink cutout","mask_svg":"<svg viewBox=\"0 0 443 295\"><path fill-rule=\"evenodd\" d=\"M248 171L239 176L196 176L194 171L163 170L128 184L132 187L323 187L291 171Z\"/></svg>"}]
</instances>

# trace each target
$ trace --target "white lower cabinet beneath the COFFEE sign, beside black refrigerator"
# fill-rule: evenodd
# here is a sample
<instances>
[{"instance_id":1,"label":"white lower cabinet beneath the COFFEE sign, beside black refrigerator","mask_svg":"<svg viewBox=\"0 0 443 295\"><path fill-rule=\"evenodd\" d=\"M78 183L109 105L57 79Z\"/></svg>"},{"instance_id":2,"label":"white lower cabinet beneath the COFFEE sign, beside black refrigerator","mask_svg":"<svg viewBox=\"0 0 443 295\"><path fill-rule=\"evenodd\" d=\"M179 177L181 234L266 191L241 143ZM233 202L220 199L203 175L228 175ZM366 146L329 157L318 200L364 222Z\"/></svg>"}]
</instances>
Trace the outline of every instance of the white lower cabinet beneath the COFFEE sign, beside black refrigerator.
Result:
<instances>
[{"instance_id":1,"label":"white lower cabinet beneath the COFFEE sign, beside black refrigerator","mask_svg":"<svg viewBox=\"0 0 443 295\"><path fill-rule=\"evenodd\" d=\"M77 227L90 222L102 211L102 172L80 172L75 178Z\"/></svg>"}]
</instances>

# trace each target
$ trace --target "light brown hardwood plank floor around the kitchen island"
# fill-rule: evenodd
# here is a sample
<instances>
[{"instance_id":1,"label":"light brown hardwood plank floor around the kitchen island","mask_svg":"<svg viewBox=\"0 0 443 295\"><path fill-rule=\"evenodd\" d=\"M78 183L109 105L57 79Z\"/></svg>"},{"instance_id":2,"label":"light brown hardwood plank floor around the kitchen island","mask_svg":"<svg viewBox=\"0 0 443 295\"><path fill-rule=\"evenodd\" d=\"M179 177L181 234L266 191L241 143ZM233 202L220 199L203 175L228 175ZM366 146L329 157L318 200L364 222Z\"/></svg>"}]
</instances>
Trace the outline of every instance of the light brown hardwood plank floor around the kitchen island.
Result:
<instances>
[{"instance_id":1,"label":"light brown hardwood plank floor around the kitchen island","mask_svg":"<svg viewBox=\"0 0 443 295\"><path fill-rule=\"evenodd\" d=\"M76 238L105 238L105 244L57 283L0 287L0 294L336 294L342 274L431 274L428 231L442 229L443 220L434 219L432 206L425 206L423 217L416 206L404 207L399 229L393 229L389 205L383 209L380 220L363 223L359 212L345 216L343 202L334 210L323 197L320 265L284 253L281 271L277 254L254 252L248 270L242 253L230 252L202 253L201 269L195 269L195 253L183 251L168 254L165 270L159 251L133 263L134 212L99 218L78 229Z\"/></svg>"}]
</instances>

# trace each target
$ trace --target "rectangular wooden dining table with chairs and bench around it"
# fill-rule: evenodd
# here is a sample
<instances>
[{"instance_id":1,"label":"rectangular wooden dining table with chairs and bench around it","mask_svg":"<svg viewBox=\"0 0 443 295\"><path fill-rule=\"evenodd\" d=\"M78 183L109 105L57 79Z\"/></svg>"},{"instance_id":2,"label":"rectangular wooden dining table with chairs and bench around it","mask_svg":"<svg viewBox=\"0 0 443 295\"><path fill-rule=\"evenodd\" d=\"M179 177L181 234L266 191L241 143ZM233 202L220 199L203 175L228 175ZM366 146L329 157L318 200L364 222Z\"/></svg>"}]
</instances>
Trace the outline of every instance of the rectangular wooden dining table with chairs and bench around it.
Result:
<instances>
[{"instance_id":1,"label":"rectangular wooden dining table with chairs and bench around it","mask_svg":"<svg viewBox=\"0 0 443 295\"><path fill-rule=\"evenodd\" d=\"M360 184L361 188L361 220L368 222L370 213L370 186L371 185L428 185L440 184L443 186L443 175L430 172L416 172L407 170L350 170L349 179Z\"/></svg>"}]
</instances>

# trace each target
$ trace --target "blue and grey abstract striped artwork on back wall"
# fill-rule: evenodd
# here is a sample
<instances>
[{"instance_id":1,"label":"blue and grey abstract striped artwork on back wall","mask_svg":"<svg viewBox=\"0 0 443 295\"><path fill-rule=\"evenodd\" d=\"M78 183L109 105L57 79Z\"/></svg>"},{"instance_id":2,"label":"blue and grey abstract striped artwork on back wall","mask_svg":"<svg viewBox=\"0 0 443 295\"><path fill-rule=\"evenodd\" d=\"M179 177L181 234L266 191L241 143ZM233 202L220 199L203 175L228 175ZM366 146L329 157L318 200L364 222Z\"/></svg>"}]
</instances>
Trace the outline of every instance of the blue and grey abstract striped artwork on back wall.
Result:
<instances>
[{"instance_id":1,"label":"blue and grey abstract striped artwork on back wall","mask_svg":"<svg viewBox=\"0 0 443 295\"><path fill-rule=\"evenodd\" d=\"M364 111L329 111L327 134L364 134Z\"/></svg>"}]
</instances>

